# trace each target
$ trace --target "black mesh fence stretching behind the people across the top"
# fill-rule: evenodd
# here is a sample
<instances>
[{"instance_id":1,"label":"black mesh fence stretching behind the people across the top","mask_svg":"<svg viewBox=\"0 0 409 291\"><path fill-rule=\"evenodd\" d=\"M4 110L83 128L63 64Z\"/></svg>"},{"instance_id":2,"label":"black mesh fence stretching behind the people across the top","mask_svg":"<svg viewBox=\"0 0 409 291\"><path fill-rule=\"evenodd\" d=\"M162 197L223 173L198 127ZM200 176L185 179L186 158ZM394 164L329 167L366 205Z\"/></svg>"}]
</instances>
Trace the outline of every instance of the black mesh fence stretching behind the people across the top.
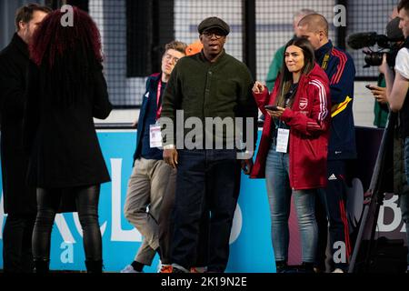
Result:
<instances>
[{"instance_id":1,"label":"black mesh fence stretching behind the people across the top","mask_svg":"<svg viewBox=\"0 0 409 291\"><path fill-rule=\"evenodd\" d=\"M17 3L18 2L18 3ZM12 10L31 1L3 0L0 49L11 39ZM223 18L232 28L226 51L244 61L262 82L276 50L294 35L293 18L300 9L313 9L330 24L330 38L344 47L345 36L374 31L384 34L398 0L45 0L53 8L78 5L93 16L102 35L105 75L115 107L141 105L146 77L160 70L166 43L198 39L196 26L207 16ZM3 36L5 35L5 36ZM7 40L5 40L7 39ZM376 67L363 68L361 50L353 55L357 79L374 79Z\"/></svg>"}]
</instances>

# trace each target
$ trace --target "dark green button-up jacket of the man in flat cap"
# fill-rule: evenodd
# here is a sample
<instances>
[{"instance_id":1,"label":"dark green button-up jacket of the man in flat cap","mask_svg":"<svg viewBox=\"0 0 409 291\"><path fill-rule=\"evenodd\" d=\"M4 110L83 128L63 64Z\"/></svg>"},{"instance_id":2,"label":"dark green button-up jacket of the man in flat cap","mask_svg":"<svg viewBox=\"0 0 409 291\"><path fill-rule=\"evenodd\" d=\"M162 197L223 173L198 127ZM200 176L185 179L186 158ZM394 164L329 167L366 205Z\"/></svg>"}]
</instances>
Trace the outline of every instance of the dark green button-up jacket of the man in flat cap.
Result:
<instances>
[{"instance_id":1,"label":"dark green button-up jacket of the man in flat cap","mask_svg":"<svg viewBox=\"0 0 409 291\"><path fill-rule=\"evenodd\" d=\"M175 65L166 86L161 116L171 118L179 129L189 117L199 118L204 127L205 117L251 117L256 137L258 109L252 95L253 83L246 65L225 52L215 63L210 63L203 51L185 56ZM183 124L181 120L176 124L176 110L184 111ZM190 131L185 129L185 135ZM169 144L178 146L175 138L165 140L165 145Z\"/></svg>"}]
</instances>

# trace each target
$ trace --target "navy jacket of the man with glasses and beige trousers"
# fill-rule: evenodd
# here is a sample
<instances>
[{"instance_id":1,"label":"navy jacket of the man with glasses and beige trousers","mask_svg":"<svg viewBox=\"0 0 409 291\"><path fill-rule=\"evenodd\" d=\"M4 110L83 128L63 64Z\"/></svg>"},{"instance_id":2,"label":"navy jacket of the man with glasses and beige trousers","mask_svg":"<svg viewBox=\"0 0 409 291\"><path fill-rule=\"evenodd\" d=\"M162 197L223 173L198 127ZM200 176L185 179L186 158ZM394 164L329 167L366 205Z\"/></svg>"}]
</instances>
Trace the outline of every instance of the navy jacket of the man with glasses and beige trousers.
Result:
<instances>
[{"instance_id":1,"label":"navy jacket of the man with glasses and beige trousers","mask_svg":"<svg viewBox=\"0 0 409 291\"><path fill-rule=\"evenodd\" d=\"M153 107L148 108L148 105L149 105L149 101L152 98L156 101L157 86L159 84L160 79L161 79L161 74L156 73L156 74L150 75L148 79L146 80L146 91L143 96L141 111L139 112L139 118L138 118L134 162L136 159L140 158L142 155L142 140L145 134L145 128L146 128L145 126L149 126L149 125L145 125L146 115L148 114L148 109L156 110L156 108L153 108ZM157 150L155 159L162 159L163 151L159 149L155 149L155 150ZM157 155L158 153L160 153L160 155Z\"/></svg>"}]
</instances>

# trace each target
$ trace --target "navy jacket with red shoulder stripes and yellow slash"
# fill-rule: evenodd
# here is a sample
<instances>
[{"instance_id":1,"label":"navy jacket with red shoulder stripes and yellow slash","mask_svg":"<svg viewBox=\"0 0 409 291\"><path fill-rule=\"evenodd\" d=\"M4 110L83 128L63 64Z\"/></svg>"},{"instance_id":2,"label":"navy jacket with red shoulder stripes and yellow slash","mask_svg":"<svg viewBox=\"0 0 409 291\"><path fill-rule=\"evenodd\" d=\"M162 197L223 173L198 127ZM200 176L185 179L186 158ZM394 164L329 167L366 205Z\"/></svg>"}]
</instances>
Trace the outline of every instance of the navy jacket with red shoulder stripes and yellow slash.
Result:
<instances>
[{"instance_id":1,"label":"navy jacket with red shoulder stripes and yellow slash","mask_svg":"<svg viewBox=\"0 0 409 291\"><path fill-rule=\"evenodd\" d=\"M324 62L325 55L329 56L327 62ZM354 61L351 55L334 47L331 41L315 51L315 58L330 80L332 122L328 159L354 159Z\"/></svg>"}]
</instances>

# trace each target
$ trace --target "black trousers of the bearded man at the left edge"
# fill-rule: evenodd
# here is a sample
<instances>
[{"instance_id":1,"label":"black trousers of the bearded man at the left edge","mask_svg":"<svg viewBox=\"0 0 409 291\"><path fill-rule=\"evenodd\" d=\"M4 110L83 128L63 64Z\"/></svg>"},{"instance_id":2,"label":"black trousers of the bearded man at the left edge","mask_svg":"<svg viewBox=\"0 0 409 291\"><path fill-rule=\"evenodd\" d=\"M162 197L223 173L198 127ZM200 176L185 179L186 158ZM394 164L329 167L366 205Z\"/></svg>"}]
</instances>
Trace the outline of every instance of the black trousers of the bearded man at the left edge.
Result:
<instances>
[{"instance_id":1,"label":"black trousers of the bearded man at the left edge","mask_svg":"<svg viewBox=\"0 0 409 291\"><path fill-rule=\"evenodd\" d=\"M5 273L33 273L31 237L35 215L9 214L3 231L3 266Z\"/></svg>"}]
</instances>

